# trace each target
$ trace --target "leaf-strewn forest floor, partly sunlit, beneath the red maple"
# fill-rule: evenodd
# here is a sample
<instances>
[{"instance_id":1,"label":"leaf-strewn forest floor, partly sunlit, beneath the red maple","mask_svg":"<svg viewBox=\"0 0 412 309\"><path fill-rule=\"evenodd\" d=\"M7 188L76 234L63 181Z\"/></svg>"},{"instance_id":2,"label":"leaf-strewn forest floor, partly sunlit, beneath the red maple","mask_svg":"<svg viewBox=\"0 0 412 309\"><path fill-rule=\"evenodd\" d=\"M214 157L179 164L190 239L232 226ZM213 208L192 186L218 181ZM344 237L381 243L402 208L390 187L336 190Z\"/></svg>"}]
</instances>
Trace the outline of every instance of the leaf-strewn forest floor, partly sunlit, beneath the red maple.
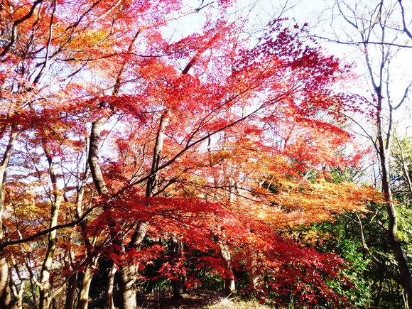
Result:
<instances>
[{"instance_id":1,"label":"leaf-strewn forest floor, partly sunlit, beneath the red maple","mask_svg":"<svg viewBox=\"0 0 412 309\"><path fill-rule=\"evenodd\" d=\"M211 291L194 291L190 294L183 294L182 299L173 299L171 296L161 296L158 293L146 295L139 300L141 309L249 309L271 308L268 305L261 305L257 300L242 300L237 297L226 297L223 293Z\"/></svg>"}]
</instances>

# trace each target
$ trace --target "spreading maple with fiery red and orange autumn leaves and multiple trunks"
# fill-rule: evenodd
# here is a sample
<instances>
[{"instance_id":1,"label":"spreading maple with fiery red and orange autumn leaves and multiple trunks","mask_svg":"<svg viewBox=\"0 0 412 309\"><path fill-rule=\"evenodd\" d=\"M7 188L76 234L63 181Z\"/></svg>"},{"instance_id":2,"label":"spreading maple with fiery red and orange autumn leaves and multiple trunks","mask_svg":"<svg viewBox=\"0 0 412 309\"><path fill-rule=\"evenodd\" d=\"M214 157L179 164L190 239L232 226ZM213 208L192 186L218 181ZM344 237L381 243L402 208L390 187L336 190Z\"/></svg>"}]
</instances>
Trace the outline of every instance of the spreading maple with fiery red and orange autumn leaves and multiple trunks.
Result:
<instances>
[{"instance_id":1,"label":"spreading maple with fiery red and orange autumn leaves and multiple trunks","mask_svg":"<svg viewBox=\"0 0 412 309\"><path fill-rule=\"evenodd\" d=\"M343 261L279 233L381 198L330 181L330 168L359 159L324 120L357 109L332 90L347 67L280 20L244 38L230 2L2 6L1 308L21 304L26 281L39 289L33 305L72 308L80 273L77 308L87 308L102 259L109 308L116 271L120 307L136 308L161 239L180 247L159 269L173 284L190 286L197 265L232 293L242 269L262 297L345 303L327 286L346 284ZM198 33L168 36L171 21L207 10Z\"/></svg>"}]
</instances>

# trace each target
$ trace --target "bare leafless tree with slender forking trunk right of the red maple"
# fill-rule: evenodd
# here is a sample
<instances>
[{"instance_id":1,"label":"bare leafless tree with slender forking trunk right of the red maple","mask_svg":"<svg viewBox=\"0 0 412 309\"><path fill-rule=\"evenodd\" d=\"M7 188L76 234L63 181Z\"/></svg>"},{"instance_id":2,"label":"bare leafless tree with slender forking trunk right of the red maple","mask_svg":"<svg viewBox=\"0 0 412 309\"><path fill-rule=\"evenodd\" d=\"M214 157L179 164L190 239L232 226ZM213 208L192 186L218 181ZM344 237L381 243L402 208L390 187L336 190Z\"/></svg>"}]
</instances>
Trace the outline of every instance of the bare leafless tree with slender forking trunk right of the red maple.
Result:
<instances>
[{"instance_id":1,"label":"bare leafless tree with slender forking trunk right of the red maple","mask_svg":"<svg viewBox=\"0 0 412 309\"><path fill-rule=\"evenodd\" d=\"M394 134L394 111L401 107L405 102L406 96L408 94L408 88L403 98L399 101L398 104L394 105L394 102L390 98L390 80L391 76L389 75L389 67L392 57L396 54L394 50L391 50L391 45L386 45L388 29L387 21L388 18L392 18L392 10L386 11L384 9L384 1L380 1L377 6L375 6L374 12L367 13L363 16L357 16L356 9L350 9L351 16L345 16L345 13L342 12L340 7L340 1L336 1L337 8L340 13L342 13L343 18L354 28L357 29L360 38L362 39L362 54L364 55L365 65L367 66L369 79L374 90L373 100L374 103L374 112L376 113L376 139L372 136L369 136L374 147L376 148L376 153L379 156L379 163L381 167L381 182L382 182L382 191L388 200L386 204L386 211L388 212L388 244L391 246L391 250L394 253L396 260L398 273L393 273L398 282L406 291L408 298L412 298L412 277L411 269L408 265L408 260L406 259L406 254L403 251L401 242L398 237L398 216L396 209L392 202L393 196L391 193L390 185L390 170L389 170L389 158L391 156L391 139ZM401 4L401 1L399 1ZM348 6L349 8L349 6ZM389 13L390 12L390 13ZM401 5L401 12L403 13L403 6ZM376 17L374 14L376 13ZM352 16L353 14L353 16ZM373 17L372 17L373 16ZM370 24L367 26L367 23L364 23L365 20L369 18L374 19L373 25ZM372 19L370 19L372 21ZM376 25L376 26L375 26ZM404 27L405 28L405 27ZM352 39L351 39L352 40ZM376 40L379 45L379 49L376 49L378 54L369 54L369 45L372 40ZM371 56L376 56L372 60ZM379 65L377 65L379 63ZM386 92L383 95L383 92ZM384 105L384 99L386 99L386 105ZM364 129L364 128L362 128ZM367 134L369 135L369 134ZM377 261L377 259L376 259ZM379 261L378 261L379 262ZM383 263L378 263L384 266ZM384 267L381 266L384 269ZM411 301L411 300L409 300Z\"/></svg>"}]
</instances>

